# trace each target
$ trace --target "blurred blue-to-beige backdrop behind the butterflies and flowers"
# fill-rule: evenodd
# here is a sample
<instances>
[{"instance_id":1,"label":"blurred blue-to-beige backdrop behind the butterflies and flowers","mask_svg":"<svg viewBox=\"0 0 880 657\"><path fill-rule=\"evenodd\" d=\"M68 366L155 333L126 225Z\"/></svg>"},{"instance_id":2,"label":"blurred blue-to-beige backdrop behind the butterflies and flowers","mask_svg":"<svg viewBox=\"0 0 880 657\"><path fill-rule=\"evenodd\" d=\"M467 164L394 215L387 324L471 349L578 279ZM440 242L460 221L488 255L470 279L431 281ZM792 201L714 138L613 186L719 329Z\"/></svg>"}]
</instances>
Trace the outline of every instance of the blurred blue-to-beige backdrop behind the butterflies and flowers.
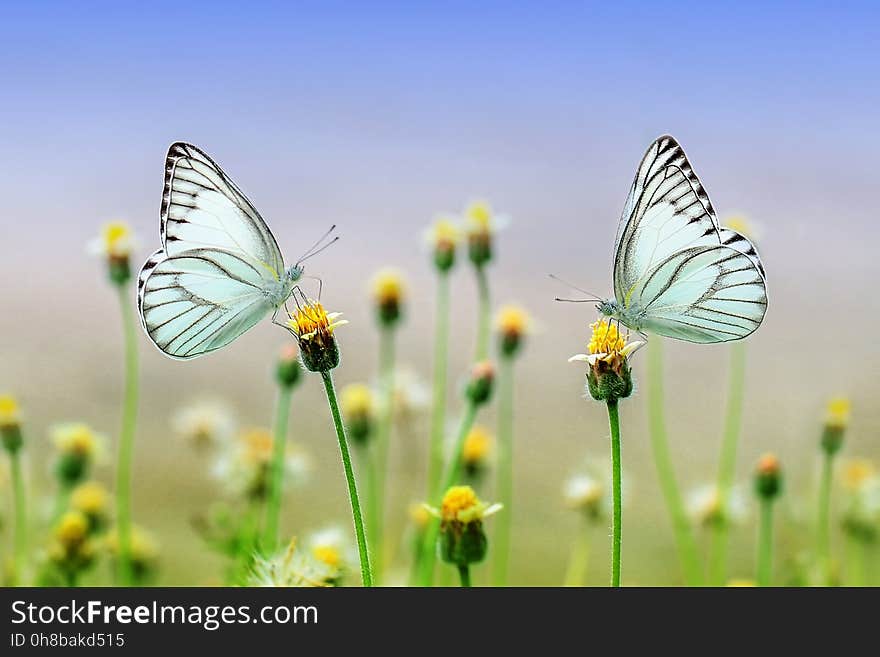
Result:
<instances>
[{"instance_id":1,"label":"blurred blue-to-beige backdrop behind the butterflies and flowers","mask_svg":"<svg viewBox=\"0 0 880 657\"><path fill-rule=\"evenodd\" d=\"M739 477L779 454L783 540L808 546L825 401L852 398L847 455L878 457L880 347L872 337L877 223L876 25L872 3L4 3L0 9L0 389L26 413L30 487L51 490L48 428L118 431L121 333L100 224L159 245L163 162L175 140L211 154L292 262L332 223L340 242L308 263L345 313L340 384L375 377L366 281L408 281L400 361L430 380L434 274L423 233L438 212L486 198L510 216L491 266L493 303L536 318L516 387L512 581L561 582L578 519L562 482L607 463L607 417L582 399L587 305L548 272L610 293L616 222L648 144L676 136L719 215L760 227L769 311L749 339ZM475 285L453 272L451 409L473 352ZM132 303L134 295L132 294ZM226 400L239 423L271 423L272 368L289 338L264 322L192 362L141 341L134 509L162 545L161 582L202 584L218 560L192 518L219 495L212 464L171 430L192 400ZM714 479L727 346L668 344L667 417L681 486ZM637 385L643 354L635 358ZM622 405L627 478L624 583L679 580L646 432L645 395ZM481 422L494 427L493 410ZM428 413L392 442L398 527L424 480ZM310 483L285 502L302 534L348 526L320 382L294 395L291 437ZM112 483L112 449L99 471ZM485 494L491 500L489 488ZM396 514L396 515L395 515ZM732 574L753 569L752 513L733 532ZM492 521L489 521L492 522ZM806 526L805 526L806 524ZM39 543L39 541L35 541ZM607 540L590 571L606 581Z\"/></svg>"}]
</instances>

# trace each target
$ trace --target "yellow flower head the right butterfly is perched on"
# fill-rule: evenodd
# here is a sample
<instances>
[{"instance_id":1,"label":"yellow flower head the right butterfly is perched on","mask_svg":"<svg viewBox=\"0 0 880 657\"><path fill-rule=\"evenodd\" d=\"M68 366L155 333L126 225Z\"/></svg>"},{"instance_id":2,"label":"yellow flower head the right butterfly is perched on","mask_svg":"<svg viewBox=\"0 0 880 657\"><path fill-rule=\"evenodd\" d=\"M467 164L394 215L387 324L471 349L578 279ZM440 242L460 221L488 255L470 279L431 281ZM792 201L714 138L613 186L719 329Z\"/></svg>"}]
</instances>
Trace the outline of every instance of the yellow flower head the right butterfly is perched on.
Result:
<instances>
[{"instance_id":1,"label":"yellow flower head the right butterfly is perched on","mask_svg":"<svg viewBox=\"0 0 880 657\"><path fill-rule=\"evenodd\" d=\"M629 356L645 343L641 340L626 342L611 320L600 319L590 324L590 329L588 353L575 354L568 362L589 365L587 389L593 399L616 401L629 397L633 390Z\"/></svg>"}]
</instances>

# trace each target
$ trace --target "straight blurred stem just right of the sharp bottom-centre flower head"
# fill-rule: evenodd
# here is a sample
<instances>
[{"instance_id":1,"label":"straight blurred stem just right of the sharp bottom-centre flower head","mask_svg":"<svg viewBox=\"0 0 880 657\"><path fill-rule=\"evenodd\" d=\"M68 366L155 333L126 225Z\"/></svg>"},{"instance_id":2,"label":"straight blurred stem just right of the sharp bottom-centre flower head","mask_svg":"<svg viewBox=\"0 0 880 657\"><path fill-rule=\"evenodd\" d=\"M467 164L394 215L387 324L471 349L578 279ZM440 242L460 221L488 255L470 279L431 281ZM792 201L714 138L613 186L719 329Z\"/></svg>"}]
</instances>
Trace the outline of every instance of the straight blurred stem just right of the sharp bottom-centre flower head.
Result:
<instances>
[{"instance_id":1,"label":"straight blurred stem just right of the sharp bottom-centre flower head","mask_svg":"<svg viewBox=\"0 0 880 657\"><path fill-rule=\"evenodd\" d=\"M498 501L504 513L496 520L492 585L506 586L513 520L513 358L501 358L498 372Z\"/></svg>"}]
</instances>

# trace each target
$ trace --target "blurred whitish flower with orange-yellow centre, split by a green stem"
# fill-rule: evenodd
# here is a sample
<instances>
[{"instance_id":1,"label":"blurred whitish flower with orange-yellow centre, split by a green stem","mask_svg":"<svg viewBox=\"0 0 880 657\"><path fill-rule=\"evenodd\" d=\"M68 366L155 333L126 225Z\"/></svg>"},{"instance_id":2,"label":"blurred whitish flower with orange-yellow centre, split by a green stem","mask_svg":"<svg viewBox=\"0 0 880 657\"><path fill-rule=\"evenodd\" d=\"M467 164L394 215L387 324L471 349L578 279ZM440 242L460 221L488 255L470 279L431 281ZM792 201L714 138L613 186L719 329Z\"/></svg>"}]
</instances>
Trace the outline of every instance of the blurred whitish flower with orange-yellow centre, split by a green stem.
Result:
<instances>
[{"instance_id":1,"label":"blurred whitish flower with orange-yellow centre, split by a green stem","mask_svg":"<svg viewBox=\"0 0 880 657\"><path fill-rule=\"evenodd\" d=\"M268 429L248 429L220 455L214 473L232 495L249 500L265 499L269 492L272 443L272 432ZM298 445L287 445L284 468L285 482L297 484L305 478L309 463Z\"/></svg>"}]
</instances>

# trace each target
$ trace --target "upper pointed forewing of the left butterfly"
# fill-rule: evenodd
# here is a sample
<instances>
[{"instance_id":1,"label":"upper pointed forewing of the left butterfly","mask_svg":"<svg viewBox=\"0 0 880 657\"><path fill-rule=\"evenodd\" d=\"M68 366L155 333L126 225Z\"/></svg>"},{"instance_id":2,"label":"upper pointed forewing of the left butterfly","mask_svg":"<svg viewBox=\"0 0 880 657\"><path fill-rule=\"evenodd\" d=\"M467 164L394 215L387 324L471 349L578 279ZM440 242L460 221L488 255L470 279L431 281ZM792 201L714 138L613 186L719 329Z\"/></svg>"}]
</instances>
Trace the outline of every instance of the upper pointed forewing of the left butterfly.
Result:
<instances>
[{"instance_id":1,"label":"upper pointed forewing of the left butterfly","mask_svg":"<svg viewBox=\"0 0 880 657\"><path fill-rule=\"evenodd\" d=\"M284 259L253 204L204 151L184 142L168 149L162 192L162 246L169 256L213 247L244 256L279 280Z\"/></svg>"}]
</instances>

